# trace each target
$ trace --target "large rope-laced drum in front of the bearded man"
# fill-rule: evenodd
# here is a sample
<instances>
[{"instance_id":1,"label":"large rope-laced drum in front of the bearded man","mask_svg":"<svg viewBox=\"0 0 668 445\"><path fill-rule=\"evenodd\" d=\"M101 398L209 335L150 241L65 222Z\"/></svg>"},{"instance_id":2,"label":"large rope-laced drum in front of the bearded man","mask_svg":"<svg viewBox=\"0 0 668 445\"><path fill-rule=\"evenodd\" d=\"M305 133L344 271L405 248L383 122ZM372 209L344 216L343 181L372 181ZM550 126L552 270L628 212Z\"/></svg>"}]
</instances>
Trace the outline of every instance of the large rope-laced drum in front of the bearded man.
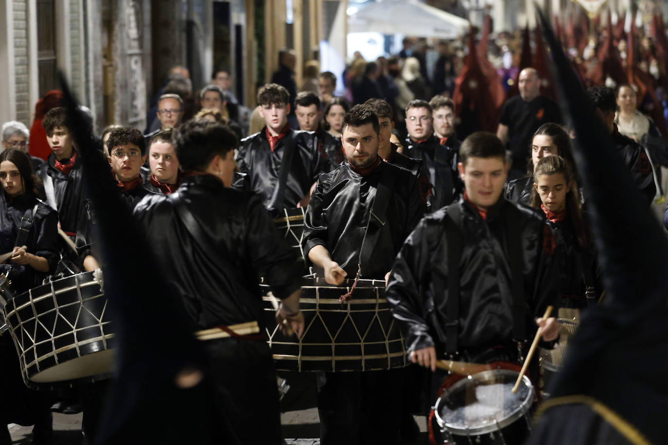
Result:
<instances>
[{"instance_id":1,"label":"large rope-laced drum in front of the bearded man","mask_svg":"<svg viewBox=\"0 0 668 445\"><path fill-rule=\"evenodd\" d=\"M346 280L347 287L339 287L323 278L304 279L300 308L305 328L301 339L281 334L271 298L264 297L269 346L277 370L371 371L407 364L399 324L383 298L385 282L359 280L351 300L339 302L352 284L353 280Z\"/></svg>"}]
</instances>

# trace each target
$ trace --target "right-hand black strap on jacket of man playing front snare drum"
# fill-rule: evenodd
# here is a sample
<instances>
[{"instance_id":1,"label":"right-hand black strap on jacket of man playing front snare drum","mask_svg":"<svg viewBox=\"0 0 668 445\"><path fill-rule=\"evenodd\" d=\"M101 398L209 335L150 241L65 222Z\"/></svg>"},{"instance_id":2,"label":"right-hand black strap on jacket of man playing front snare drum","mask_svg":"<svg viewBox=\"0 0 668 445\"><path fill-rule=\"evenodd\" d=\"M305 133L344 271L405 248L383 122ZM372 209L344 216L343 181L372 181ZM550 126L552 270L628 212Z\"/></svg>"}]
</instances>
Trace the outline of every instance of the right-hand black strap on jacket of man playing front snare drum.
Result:
<instances>
[{"instance_id":1,"label":"right-hand black strap on jacket of man playing front snare drum","mask_svg":"<svg viewBox=\"0 0 668 445\"><path fill-rule=\"evenodd\" d=\"M512 205L511 205L512 206ZM519 211L511 207L512 211ZM514 340L526 340L526 299L524 298L524 264L522 262L522 234L520 224L514 217L506 218L508 234L508 262L510 263L512 294L512 337Z\"/></svg>"}]
</instances>

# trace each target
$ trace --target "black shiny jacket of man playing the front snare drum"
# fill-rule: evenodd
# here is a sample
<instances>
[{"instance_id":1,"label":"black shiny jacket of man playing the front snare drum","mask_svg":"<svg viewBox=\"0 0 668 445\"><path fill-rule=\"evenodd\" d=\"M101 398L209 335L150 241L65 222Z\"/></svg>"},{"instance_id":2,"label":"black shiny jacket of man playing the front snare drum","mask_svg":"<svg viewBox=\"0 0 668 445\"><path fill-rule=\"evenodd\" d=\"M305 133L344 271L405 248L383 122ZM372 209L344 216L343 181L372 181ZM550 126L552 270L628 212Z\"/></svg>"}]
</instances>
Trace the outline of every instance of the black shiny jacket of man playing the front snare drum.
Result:
<instances>
[{"instance_id":1,"label":"black shiny jacket of man playing the front snare drum","mask_svg":"<svg viewBox=\"0 0 668 445\"><path fill-rule=\"evenodd\" d=\"M512 343L512 273L507 259L508 227L519 227L524 264L526 333L536 332L534 317L542 316L554 304L556 276L552 255L554 238L542 212L501 199L488 210L487 219L464 199L456 226L463 234L460 262L459 349L483 350ZM445 352L446 302L434 292L432 277L448 282L448 240L445 219L448 206L428 215L407 238L392 266L385 298L401 322L409 350L436 346ZM447 286L447 285L446 285ZM556 310L555 310L556 313ZM435 329L438 324L440 329Z\"/></svg>"}]
</instances>

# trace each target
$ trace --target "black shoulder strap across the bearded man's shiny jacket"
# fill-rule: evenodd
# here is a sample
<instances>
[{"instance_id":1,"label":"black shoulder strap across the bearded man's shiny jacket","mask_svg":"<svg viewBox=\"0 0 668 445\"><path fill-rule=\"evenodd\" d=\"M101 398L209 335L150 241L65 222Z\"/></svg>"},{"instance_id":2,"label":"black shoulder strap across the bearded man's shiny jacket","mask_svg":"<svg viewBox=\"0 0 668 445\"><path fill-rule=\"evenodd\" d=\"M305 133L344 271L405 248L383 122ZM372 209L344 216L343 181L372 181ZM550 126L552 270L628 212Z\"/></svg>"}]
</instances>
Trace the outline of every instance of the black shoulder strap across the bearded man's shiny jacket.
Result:
<instances>
[{"instance_id":1,"label":"black shoulder strap across the bearded man's shiny jacket","mask_svg":"<svg viewBox=\"0 0 668 445\"><path fill-rule=\"evenodd\" d=\"M378 243L378 238L383 231L383 226L387 224L385 213L389 200L394 193L395 176L391 173L391 167L388 167L381 161L381 172L376 187L375 197L371 204L371 211L369 211L369 222L367 223L367 230L362 240L362 246L359 250L359 272L369 270L373 248Z\"/></svg>"}]
</instances>

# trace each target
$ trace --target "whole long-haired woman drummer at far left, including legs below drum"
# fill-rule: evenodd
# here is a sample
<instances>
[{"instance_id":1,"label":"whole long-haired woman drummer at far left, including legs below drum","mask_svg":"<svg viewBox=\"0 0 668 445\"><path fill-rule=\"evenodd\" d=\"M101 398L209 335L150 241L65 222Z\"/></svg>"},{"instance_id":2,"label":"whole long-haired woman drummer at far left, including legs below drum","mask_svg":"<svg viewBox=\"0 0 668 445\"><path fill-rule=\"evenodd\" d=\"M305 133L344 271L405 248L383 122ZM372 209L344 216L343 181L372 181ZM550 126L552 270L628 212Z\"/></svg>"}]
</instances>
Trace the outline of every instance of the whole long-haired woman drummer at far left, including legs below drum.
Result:
<instances>
[{"instance_id":1,"label":"whole long-haired woman drummer at far left, including legs below drum","mask_svg":"<svg viewBox=\"0 0 668 445\"><path fill-rule=\"evenodd\" d=\"M6 149L0 153L0 183L0 253L11 253L0 264L0 271L9 277L12 290L19 294L39 286L55 270L58 214L37 199L41 181L23 151ZM33 443L50 442L53 434L50 394L25 387L9 335L0 336L0 381L5 385L5 403L0 408L0 444L11 444L7 424L19 419L29 419L28 422L35 424ZM29 412L17 412L17 406L27 406Z\"/></svg>"}]
</instances>

